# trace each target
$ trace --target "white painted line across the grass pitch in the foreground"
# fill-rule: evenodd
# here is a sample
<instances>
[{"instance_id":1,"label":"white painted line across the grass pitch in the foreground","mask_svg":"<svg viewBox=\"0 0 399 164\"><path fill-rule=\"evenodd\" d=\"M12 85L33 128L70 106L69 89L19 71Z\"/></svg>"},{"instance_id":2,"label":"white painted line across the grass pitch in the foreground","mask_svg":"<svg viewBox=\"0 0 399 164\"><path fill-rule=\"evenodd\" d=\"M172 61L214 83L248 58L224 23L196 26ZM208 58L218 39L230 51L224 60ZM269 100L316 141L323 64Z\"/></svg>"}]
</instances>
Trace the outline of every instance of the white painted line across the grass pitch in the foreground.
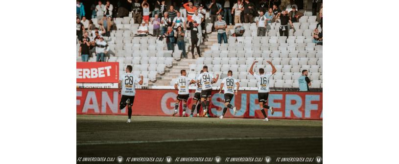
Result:
<instances>
[{"instance_id":1,"label":"white painted line across the grass pitch in the foreground","mask_svg":"<svg viewBox=\"0 0 399 164\"><path fill-rule=\"evenodd\" d=\"M218 140L267 140L267 139L318 139L322 136L310 137L246 137L246 138L215 138L215 139L188 139L188 140L163 140L163 141L84 141L76 145L96 145L96 144L126 144L126 143L162 143L162 142L185 142L185 141L218 141Z\"/></svg>"}]
</instances>

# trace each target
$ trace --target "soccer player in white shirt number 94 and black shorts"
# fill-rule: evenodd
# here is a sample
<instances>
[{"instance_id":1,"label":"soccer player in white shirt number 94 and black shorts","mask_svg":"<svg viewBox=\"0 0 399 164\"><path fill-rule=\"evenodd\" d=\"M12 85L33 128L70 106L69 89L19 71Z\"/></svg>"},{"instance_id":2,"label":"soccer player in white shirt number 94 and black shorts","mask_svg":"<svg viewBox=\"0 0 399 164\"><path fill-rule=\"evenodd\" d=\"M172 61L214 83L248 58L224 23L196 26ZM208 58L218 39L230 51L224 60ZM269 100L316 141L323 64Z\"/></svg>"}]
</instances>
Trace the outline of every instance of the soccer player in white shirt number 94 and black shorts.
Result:
<instances>
[{"instance_id":1,"label":"soccer player in white shirt number 94 and black shorts","mask_svg":"<svg viewBox=\"0 0 399 164\"><path fill-rule=\"evenodd\" d=\"M197 77L197 82L201 82L202 91L201 91L201 104L204 109L204 114L202 117L208 116L208 108L209 108L209 100L211 99L212 92L212 83L215 83L219 78L219 74L216 74L216 78L213 77L212 73L208 72L208 66L204 66L202 68L204 72L202 72Z\"/></svg>"}]
</instances>

